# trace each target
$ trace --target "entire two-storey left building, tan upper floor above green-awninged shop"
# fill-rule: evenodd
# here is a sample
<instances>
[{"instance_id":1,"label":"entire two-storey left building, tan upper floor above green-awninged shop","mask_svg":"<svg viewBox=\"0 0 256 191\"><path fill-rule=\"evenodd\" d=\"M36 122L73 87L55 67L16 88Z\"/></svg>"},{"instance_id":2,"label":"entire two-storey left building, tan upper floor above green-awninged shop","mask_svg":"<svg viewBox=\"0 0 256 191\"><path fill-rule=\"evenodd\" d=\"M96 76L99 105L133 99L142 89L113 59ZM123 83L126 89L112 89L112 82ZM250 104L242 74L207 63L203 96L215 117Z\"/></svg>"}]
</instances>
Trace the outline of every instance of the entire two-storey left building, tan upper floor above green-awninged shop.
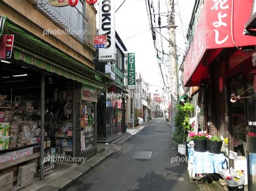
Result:
<instances>
[{"instance_id":1,"label":"entire two-storey left building, tan upper floor above green-awninged shop","mask_svg":"<svg viewBox=\"0 0 256 191\"><path fill-rule=\"evenodd\" d=\"M8 116L1 126L9 130L1 135L1 156L14 155L1 160L1 172L35 162L42 180L45 171L58 168L44 157L96 153L97 101L113 80L95 70L97 11L77 3L58 8L48 0L0 2L0 112Z\"/></svg>"}]
</instances>

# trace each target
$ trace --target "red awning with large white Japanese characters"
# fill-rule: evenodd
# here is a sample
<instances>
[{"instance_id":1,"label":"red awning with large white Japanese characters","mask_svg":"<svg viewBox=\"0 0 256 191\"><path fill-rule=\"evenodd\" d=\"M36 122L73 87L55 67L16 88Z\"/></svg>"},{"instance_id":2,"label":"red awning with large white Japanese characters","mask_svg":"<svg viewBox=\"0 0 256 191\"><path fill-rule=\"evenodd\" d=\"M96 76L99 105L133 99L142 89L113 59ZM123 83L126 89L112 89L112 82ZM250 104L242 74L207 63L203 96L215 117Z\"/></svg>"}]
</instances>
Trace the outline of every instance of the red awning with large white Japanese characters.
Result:
<instances>
[{"instance_id":1,"label":"red awning with large white Japanese characters","mask_svg":"<svg viewBox=\"0 0 256 191\"><path fill-rule=\"evenodd\" d=\"M199 22L184 61L184 86L199 86L202 79L207 79L208 66L223 48L256 45L255 37L242 34L251 16L252 1L233 0L233 13L232 0L203 2Z\"/></svg>"}]
</instances>

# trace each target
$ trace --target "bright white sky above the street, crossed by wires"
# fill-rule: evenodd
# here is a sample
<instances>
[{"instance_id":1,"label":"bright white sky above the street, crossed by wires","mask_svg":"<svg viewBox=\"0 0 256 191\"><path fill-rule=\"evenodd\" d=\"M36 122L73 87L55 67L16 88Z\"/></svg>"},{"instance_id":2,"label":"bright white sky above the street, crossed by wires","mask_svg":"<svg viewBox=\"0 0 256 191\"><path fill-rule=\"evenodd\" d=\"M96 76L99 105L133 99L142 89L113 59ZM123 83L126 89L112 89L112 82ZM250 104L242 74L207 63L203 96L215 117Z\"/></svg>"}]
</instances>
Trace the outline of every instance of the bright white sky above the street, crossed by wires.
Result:
<instances>
[{"instance_id":1,"label":"bright white sky above the street, crossed by wires","mask_svg":"<svg viewBox=\"0 0 256 191\"><path fill-rule=\"evenodd\" d=\"M124 0L116 0L115 2L117 10ZM128 52L135 53L136 72L142 73L145 82L151 84L151 93L163 93L164 90L165 92L167 91L166 87L170 84L168 79L168 75L170 75L169 61L165 60L162 62L161 59L157 59L150 29L149 12L147 12L149 7L148 5L146 7L146 2L147 0L125 0L124 4L116 12L116 31ZM169 13L167 4L169 0L150 0L150 4L151 2L153 3L154 13L157 14L155 15L156 23L153 22L153 25L158 25L158 13L160 12L161 26L166 26ZM176 3L174 10L176 12L176 25L178 26L176 29L176 43L180 49L185 50L184 37L190 22L194 0L174 0L174 3ZM152 8L151 12L153 13ZM162 34L162 37L157 33L156 46L159 51L169 54L169 42L166 40L169 39L168 30L162 28L161 31L159 29L157 31ZM184 53L183 51L181 52ZM183 55L180 52L178 53L180 54L179 60L182 61ZM161 53L158 56L163 58ZM160 73L159 62L161 63L163 77Z\"/></svg>"}]
</instances>

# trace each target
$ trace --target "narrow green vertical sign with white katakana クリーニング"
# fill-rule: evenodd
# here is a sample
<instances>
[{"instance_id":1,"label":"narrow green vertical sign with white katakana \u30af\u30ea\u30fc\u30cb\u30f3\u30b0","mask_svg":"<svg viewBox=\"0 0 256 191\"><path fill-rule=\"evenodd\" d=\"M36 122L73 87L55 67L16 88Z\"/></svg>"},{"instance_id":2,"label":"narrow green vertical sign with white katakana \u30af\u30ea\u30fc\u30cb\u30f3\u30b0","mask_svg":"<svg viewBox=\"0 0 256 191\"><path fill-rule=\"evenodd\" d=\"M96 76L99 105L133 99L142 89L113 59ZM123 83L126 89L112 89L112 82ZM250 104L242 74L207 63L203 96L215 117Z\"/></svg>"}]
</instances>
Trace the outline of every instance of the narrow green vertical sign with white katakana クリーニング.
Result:
<instances>
[{"instance_id":1,"label":"narrow green vertical sign with white katakana \u30af\u30ea\u30fc\u30cb\u30f3\u30b0","mask_svg":"<svg viewBox=\"0 0 256 191\"><path fill-rule=\"evenodd\" d=\"M128 89L136 89L135 54L128 53Z\"/></svg>"}]
</instances>

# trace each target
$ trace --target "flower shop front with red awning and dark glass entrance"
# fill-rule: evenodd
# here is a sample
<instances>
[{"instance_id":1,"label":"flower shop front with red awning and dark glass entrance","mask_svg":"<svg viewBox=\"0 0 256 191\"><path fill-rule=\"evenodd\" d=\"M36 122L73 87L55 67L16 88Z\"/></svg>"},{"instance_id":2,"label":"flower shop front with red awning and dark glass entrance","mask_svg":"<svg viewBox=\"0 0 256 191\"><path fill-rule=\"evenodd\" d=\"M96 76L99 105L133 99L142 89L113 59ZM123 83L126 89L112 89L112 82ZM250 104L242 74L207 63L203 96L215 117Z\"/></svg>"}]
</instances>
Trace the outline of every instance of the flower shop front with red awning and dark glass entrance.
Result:
<instances>
[{"instance_id":1,"label":"flower shop front with red awning and dark glass entrance","mask_svg":"<svg viewBox=\"0 0 256 191\"><path fill-rule=\"evenodd\" d=\"M221 152L228 167L245 171L249 190L255 190L256 174L256 68L252 61L256 41L254 37L243 36L242 31L251 16L252 5L241 5L240 1L227 1L222 6L212 1L198 4L195 15L199 20L191 20L191 46L184 61L184 85L199 86L196 107L205 106L204 130L224 140ZM246 13L238 9L240 6ZM225 16L221 20L220 13ZM196 130L200 116L200 109L196 109Z\"/></svg>"}]
</instances>

